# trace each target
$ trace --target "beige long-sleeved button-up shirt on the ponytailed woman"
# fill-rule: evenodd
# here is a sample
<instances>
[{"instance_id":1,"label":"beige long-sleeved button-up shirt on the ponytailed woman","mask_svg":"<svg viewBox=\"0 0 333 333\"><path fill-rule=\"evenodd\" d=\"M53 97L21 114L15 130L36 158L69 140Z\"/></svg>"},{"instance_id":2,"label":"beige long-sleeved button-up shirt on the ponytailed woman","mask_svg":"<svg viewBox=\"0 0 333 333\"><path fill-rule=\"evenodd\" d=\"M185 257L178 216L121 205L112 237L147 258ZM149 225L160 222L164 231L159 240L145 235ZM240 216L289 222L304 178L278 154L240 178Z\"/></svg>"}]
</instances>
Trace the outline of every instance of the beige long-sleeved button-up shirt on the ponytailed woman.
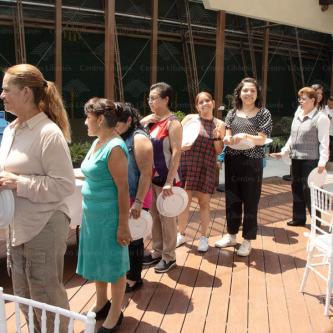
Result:
<instances>
[{"instance_id":1,"label":"beige long-sleeved button-up shirt on the ponytailed woman","mask_svg":"<svg viewBox=\"0 0 333 333\"><path fill-rule=\"evenodd\" d=\"M38 235L55 211L68 215L64 198L75 188L71 157L60 128L45 113L20 125L13 121L5 129L0 165L20 176L17 190L13 191L12 246Z\"/></svg>"}]
</instances>

